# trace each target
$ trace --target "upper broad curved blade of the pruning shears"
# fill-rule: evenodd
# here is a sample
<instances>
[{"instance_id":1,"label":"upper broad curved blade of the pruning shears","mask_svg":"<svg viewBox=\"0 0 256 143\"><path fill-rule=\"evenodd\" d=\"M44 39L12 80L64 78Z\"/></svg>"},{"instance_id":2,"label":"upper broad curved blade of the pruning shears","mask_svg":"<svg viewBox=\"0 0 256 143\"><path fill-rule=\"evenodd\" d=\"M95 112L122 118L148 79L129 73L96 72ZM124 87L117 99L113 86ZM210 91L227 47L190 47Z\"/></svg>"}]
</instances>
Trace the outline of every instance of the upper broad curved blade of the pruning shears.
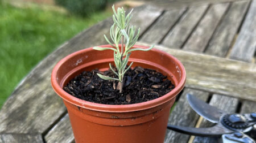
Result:
<instances>
[{"instance_id":1,"label":"upper broad curved blade of the pruning shears","mask_svg":"<svg viewBox=\"0 0 256 143\"><path fill-rule=\"evenodd\" d=\"M208 103L197 99L191 94L187 94L187 99L189 105L192 107L193 110L197 112L197 114L203 116L205 119L209 120L212 123L218 123L220 117L226 114L225 111L217 109L214 106L210 106Z\"/></svg>"}]
</instances>

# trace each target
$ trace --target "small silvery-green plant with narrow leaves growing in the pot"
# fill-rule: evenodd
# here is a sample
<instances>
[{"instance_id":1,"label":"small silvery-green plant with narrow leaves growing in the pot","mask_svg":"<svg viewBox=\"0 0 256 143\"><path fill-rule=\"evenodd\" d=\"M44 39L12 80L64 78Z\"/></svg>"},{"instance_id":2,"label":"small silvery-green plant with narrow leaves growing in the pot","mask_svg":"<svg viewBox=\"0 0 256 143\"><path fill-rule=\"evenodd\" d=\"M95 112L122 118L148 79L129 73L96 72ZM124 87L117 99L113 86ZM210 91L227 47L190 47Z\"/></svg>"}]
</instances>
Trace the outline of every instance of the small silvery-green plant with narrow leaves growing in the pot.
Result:
<instances>
[{"instance_id":1,"label":"small silvery-green plant with narrow leaves growing in the pot","mask_svg":"<svg viewBox=\"0 0 256 143\"><path fill-rule=\"evenodd\" d=\"M115 73L115 75L118 76L118 79L104 76L104 75L101 75L100 73L97 73L97 75L104 80L118 80L119 82L122 83L123 75L127 70L129 70L129 68L133 64L132 62L129 67L125 68L128 63L131 51L135 51L135 50L148 51L148 50L151 50L154 47L154 45L152 45L148 49L132 48L134 44L137 42L139 37L139 32L140 32L140 28L136 32L136 28L133 25L129 24L131 20L131 12L133 10L131 10L129 14L125 15L125 10L123 9L123 7L122 8L118 7L117 12L115 12L114 5L112 6L112 8L114 12L113 14L114 24L110 28L110 37L112 42L109 41L109 39L105 36L105 34L104 34L104 37L106 41L113 47L93 47L93 49L114 51L114 63L115 63L115 67L117 68L117 72L113 70L111 64L109 64L109 67ZM120 41L121 41L121 51L119 50L119 46L118 46ZM123 47L125 47L124 49L125 51L123 51Z\"/></svg>"}]
</instances>

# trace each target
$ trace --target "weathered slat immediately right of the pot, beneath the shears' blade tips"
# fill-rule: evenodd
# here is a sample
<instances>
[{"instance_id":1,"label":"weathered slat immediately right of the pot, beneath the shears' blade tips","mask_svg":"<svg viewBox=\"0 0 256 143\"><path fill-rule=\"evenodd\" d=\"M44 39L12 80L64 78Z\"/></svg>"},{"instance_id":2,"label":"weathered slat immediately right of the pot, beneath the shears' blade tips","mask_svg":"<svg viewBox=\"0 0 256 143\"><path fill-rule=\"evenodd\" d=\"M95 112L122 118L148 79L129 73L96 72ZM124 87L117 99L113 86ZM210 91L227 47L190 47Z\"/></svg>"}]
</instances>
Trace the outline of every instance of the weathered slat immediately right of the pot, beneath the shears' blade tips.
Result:
<instances>
[{"instance_id":1,"label":"weathered slat immediately right of the pot, beneath the shears' blade tips","mask_svg":"<svg viewBox=\"0 0 256 143\"><path fill-rule=\"evenodd\" d=\"M191 109L191 107L189 106L186 96L187 93L193 94L197 98L202 99L203 101L207 101L209 97L209 93L207 92L188 88L184 89L184 92L181 94L179 101L174 107L174 110L172 110L170 114L168 124L188 127L193 127L196 124L199 115L197 115L196 112L193 111L193 109ZM187 142L188 139L189 135L167 130L164 142Z\"/></svg>"}]
</instances>

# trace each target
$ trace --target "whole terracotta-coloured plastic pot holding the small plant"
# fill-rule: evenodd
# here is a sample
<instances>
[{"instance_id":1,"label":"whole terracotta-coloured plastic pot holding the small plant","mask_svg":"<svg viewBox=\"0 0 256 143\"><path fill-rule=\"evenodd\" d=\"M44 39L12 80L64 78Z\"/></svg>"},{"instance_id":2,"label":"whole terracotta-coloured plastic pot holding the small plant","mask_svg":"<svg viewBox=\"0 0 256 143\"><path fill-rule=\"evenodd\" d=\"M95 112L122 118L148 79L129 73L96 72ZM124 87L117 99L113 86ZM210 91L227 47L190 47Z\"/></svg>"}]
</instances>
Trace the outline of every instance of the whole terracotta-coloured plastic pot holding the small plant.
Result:
<instances>
[{"instance_id":1,"label":"whole terracotta-coloured plastic pot holding the small plant","mask_svg":"<svg viewBox=\"0 0 256 143\"><path fill-rule=\"evenodd\" d=\"M133 67L159 71L176 86L170 93L151 101L103 105L73 97L62 89L82 71L108 70L113 61L112 50L97 51L90 47L68 55L53 68L52 87L68 109L76 142L163 142L171 106L185 84L185 69L172 55L157 49L133 51L130 55Z\"/></svg>"}]
</instances>

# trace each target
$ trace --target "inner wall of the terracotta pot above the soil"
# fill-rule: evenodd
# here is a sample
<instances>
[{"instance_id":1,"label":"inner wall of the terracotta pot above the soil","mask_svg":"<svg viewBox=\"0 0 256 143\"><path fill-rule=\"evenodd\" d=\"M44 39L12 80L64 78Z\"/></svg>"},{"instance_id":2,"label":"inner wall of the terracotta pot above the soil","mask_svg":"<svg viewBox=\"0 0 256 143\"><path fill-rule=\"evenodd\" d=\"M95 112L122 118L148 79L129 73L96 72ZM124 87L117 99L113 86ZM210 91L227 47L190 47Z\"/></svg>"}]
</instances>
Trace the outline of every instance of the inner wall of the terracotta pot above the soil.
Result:
<instances>
[{"instance_id":1,"label":"inner wall of the terracotta pot above the soil","mask_svg":"<svg viewBox=\"0 0 256 143\"><path fill-rule=\"evenodd\" d=\"M177 86L181 81L182 71L176 60L176 58L168 54L159 53L158 50L133 51L128 64L134 62L131 68L141 66L161 72L172 81L172 84ZM83 71L92 71L96 68L100 71L108 70L109 63L114 64L112 50L81 50L81 52L79 51L75 55L69 55L69 58L61 64L57 71L56 79L60 87L63 88L71 79Z\"/></svg>"}]
</instances>

